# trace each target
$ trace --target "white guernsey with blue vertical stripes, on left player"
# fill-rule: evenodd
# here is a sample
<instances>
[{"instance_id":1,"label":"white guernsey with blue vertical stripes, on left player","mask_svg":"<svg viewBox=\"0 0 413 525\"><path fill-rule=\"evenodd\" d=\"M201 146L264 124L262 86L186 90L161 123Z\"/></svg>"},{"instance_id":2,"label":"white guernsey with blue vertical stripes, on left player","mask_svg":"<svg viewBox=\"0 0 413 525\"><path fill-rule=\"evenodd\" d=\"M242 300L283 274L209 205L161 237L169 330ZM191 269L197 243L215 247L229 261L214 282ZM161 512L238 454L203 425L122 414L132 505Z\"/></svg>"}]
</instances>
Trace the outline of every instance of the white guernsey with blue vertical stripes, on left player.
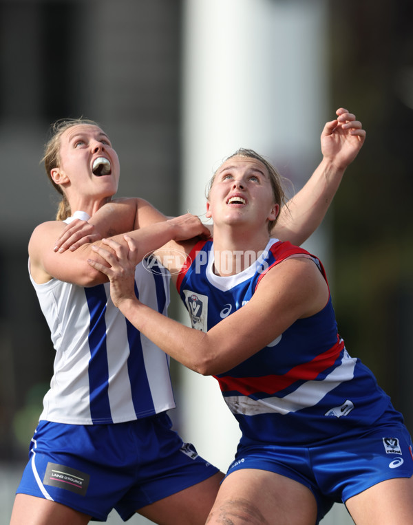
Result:
<instances>
[{"instance_id":1,"label":"white guernsey with blue vertical stripes, on left player","mask_svg":"<svg viewBox=\"0 0 413 525\"><path fill-rule=\"evenodd\" d=\"M135 290L162 314L169 306L169 272L142 263ZM56 350L54 374L40 420L72 425L145 418L175 407L169 358L112 303L109 283L83 288L30 275Z\"/></svg>"}]
</instances>

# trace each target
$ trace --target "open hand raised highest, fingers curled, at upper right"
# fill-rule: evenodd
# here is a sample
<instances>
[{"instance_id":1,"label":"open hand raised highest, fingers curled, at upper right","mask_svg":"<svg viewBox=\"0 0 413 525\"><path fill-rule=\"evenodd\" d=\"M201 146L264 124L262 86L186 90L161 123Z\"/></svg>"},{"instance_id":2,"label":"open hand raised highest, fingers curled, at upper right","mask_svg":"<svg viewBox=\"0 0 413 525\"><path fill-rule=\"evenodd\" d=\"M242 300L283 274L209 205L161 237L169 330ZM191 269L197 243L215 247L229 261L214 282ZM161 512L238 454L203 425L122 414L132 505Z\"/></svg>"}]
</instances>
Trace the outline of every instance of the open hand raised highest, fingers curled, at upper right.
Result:
<instances>
[{"instance_id":1,"label":"open hand raised highest, fingers curled, at upper right","mask_svg":"<svg viewBox=\"0 0 413 525\"><path fill-rule=\"evenodd\" d=\"M340 107L336 114L337 118L326 122L321 133L321 153L337 169L346 169L363 146L366 130L347 109Z\"/></svg>"}]
</instances>

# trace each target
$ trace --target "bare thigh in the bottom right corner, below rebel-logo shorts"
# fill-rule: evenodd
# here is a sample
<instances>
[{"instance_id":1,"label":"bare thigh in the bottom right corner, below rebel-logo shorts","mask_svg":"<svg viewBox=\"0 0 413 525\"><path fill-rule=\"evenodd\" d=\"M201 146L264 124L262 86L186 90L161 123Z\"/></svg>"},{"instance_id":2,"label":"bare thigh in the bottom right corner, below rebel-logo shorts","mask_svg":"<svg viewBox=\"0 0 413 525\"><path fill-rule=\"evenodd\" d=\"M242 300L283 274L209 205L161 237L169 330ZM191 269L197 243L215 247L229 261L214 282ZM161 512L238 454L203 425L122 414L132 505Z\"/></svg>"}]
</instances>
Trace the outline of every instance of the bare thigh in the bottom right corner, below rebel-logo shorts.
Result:
<instances>
[{"instance_id":1,"label":"bare thigh in the bottom right corner, below rebel-logo shorts","mask_svg":"<svg viewBox=\"0 0 413 525\"><path fill-rule=\"evenodd\" d=\"M346 501L357 525L413 523L413 478L386 480Z\"/></svg>"}]
</instances>

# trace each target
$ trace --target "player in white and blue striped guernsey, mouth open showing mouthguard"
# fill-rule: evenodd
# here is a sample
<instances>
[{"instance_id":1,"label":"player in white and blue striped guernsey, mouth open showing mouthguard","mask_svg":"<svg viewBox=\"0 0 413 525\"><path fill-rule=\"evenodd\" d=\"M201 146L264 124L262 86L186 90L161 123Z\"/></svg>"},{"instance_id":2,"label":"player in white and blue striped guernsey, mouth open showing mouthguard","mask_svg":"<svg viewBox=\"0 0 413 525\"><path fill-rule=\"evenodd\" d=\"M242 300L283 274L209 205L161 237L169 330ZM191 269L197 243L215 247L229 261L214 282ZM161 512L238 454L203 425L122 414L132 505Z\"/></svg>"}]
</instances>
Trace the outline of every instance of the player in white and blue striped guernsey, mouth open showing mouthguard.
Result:
<instances>
[{"instance_id":1,"label":"player in white and blue striped guernsey, mouth open showing mouthguard","mask_svg":"<svg viewBox=\"0 0 413 525\"><path fill-rule=\"evenodd\" d=\"M94 122L56 125L45 167L63 200L58 220L32 234L29 271L56 358L10 523L86 524L116 508L124 520L139 512L159 524L201 524L222 474L171 430L167 356L114 307L106 277L86 262L90 246L60 253L55 244L68 222L93 220L105 204L116 206L112 231L133 215L127 228L142 228L149 244L209 231L189 215L165 222L143 200L113 203L118 156ZM165 270L138 264L135 286L167 313Z\"/></svg>"}]
</instances>

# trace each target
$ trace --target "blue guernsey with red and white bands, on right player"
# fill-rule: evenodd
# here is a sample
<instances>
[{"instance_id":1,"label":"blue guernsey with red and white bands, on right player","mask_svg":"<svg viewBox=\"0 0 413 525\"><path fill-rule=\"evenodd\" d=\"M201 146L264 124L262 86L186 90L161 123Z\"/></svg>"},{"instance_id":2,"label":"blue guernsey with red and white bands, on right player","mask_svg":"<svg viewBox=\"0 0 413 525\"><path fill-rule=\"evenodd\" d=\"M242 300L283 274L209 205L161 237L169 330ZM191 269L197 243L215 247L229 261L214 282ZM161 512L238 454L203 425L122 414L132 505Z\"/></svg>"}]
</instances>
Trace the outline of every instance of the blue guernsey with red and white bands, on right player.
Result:
<instances>
[{"instance_id":1,"label":"blue guernsey with red and white bands, on right player","mask_svg":"<svg viewBox=\"0 0 413 525\"><path fill-rule=\"evenodd\" d=\"M213 242L199 242L177 282L193 328L206 332L242 308L257 286L265 286L266 273L289 257L312 259L326 279L317 257L278 239L270 239L246 270L220 277L213 273ZM215 378L240 423L242 444L322 444L368 429L386 410L394 411L372 372L348 354L331 297L320 312L298 319L260 352ZM399 420L399 412L394 414Z\"/></svg>"}]
</instances>

